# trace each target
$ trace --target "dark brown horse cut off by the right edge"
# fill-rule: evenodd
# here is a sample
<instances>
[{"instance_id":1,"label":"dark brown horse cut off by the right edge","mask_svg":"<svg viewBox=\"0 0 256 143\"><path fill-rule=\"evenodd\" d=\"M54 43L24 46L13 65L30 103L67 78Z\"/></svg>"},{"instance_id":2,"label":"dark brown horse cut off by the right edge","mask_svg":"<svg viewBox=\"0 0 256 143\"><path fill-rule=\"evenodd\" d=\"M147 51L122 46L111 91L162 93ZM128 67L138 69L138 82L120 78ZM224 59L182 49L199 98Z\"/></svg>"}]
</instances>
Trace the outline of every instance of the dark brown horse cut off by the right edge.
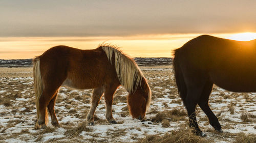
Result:
<instances>
[{"instance_id":1,"label":"dark brown horse cut off by the right edge","mask_svg":"<svg viewBox=\"0 0 256 143\"><path fill-rule=\"evenodd\" d=\"M197 135L205 136L197 124L197 104L210 125L223 132L208 105L214 83L232 92L256 92L256 39L243 42L202 35L176 49L173 64L189 126Z\"/></svg>"}]
</instances>

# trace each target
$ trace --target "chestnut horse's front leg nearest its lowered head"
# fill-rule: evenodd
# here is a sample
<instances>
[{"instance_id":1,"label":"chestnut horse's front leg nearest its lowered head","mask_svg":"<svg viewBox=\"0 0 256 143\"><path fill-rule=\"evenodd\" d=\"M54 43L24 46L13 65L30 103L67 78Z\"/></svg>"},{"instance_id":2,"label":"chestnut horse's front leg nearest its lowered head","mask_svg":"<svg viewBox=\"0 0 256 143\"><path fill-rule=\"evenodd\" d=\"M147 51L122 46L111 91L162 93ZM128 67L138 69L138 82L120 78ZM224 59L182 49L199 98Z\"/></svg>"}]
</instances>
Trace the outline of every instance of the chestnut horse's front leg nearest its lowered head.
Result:
<instances>
[{"instance_id":1,"label":"chestnut horse's front leg nearest its lowered head","mask_svg":"<svg viewBox=\"0 0 256 143\"><path fill-rule=\"evenodd\" d=\"M113 103L113 95L116 92L117 87L108 87L105 88L104 98L106 102L106 120L108 120L111 124L117 124L112 115L112 103Z\"/></svg>"}]
</instances>

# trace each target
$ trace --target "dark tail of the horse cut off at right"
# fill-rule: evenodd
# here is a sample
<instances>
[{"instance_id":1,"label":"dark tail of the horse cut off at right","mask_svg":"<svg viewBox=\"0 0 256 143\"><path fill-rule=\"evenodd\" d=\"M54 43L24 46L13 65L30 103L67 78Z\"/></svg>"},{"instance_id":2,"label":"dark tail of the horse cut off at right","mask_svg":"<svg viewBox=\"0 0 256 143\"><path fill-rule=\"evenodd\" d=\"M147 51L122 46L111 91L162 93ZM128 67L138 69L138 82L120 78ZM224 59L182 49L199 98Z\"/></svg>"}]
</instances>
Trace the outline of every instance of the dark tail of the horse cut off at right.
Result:
<instances>
[{"instance_id":1,"label":"dark tail of the horse cut off at right","mask_svg":"<svg viewBox=\"0 0 256 143\"><path fill-rule=\"evenodd\" d=\"M186 83L185 83L185 80L184 80L184 77L182 74L182 70L179 65L182 62L182 61L180 61L181 60L180 59L181 58L180 50L181 50L181 48L174 50L173 72L175 75L175 82L176 82L176 85L178 88L178 92L179 92L180 97L186 107L185 98L187 95L187 87L186 87Z\"/></svg>"}]
</instances>

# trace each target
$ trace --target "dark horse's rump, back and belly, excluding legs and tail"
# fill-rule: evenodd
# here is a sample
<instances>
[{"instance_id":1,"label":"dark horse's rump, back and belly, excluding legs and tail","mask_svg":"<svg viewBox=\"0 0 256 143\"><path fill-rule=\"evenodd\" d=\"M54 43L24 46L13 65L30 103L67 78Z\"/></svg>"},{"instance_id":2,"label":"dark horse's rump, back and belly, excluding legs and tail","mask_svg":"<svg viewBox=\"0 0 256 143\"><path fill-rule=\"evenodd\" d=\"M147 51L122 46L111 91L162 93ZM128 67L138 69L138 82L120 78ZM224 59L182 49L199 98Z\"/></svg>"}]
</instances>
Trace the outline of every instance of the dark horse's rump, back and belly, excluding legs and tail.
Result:
<instances>
[{"instance_id":1,"label":"dark horse's rump, back and belly, excluding legs and tail","mask_svg":"<svg viewBox=\"0 0 256 143\"><path fill-rule=\"evenodd\" d=\"M209 78L229 91L256 91L255 40L243 42L203 35L176 52L185 72Z\"/></svg>"}]
</instances>

